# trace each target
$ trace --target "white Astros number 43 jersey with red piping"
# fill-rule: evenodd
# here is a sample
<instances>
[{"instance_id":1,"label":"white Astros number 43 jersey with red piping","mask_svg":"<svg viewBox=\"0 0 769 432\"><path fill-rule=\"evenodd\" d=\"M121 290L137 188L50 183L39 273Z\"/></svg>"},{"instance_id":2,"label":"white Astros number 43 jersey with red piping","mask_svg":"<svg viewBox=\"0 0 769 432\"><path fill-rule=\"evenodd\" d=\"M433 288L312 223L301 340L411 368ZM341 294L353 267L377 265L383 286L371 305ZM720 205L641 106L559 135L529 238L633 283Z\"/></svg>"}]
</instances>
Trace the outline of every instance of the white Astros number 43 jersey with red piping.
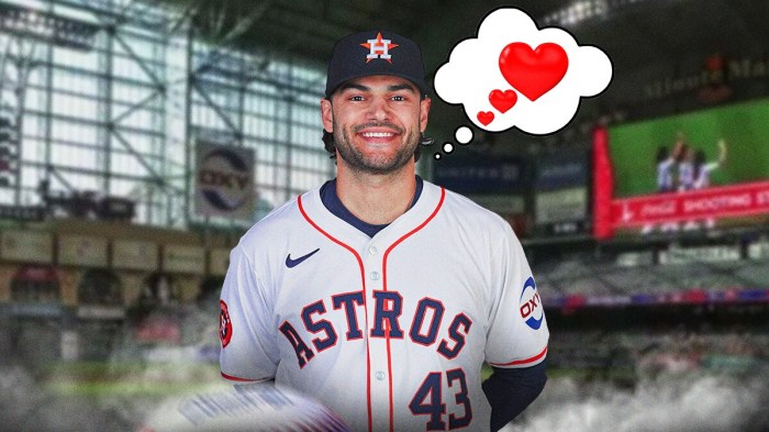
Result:
<instances>
[{"instance_id":1,"label":"white Astros number 43 jersey with red piping","mask_svg":"<svg viewBox=\"0 0 769 432\"><path fill-rule=\"evenodd\" d=\"M356 431L488 431L483 362L538 364L542 300L510 224L424 181L374 237L320 188L254 225L222 289L225 378L275 378Z\"/></svg>"}]
</instances>

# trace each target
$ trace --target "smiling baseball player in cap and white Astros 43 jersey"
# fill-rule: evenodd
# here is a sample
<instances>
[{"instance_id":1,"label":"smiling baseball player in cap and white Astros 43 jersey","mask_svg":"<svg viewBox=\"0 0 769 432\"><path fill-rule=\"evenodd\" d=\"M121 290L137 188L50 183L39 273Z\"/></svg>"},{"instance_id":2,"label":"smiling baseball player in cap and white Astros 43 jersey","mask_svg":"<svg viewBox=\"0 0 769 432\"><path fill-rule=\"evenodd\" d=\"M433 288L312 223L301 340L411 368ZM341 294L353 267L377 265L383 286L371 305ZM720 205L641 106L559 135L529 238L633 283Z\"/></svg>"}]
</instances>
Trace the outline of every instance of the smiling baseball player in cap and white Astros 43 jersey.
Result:
<instances>
[{"instance_id":1,"label":"smiling baseball player in cap and white Astros 43 jersey","mask_svg":"<svg viewBox=\"0 0 769 432\"><path fill-rule=\"evenodd\" d=\"M539 395L548 329L519 240L415 175L430 106L413 42L336 43L321 114L337 176L233 248L225 378L298 389L356 431L495 431Z\"/></svg>"}]
</instances>

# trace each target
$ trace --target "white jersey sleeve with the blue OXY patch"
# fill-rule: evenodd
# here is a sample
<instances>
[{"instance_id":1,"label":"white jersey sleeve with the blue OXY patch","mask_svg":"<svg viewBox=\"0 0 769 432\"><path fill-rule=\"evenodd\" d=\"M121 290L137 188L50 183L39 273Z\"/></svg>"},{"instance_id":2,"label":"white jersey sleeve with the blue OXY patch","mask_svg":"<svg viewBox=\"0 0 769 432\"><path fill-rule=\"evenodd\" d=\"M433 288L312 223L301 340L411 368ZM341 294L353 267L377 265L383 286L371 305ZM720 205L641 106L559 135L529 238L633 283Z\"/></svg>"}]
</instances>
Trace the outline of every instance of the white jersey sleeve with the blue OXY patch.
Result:
<instances>
[{"instance_id":1,"label":"white jersey sleeve with the blue OXY patch","mask_svg":"<svg viewBox=\"0 0 769 432\"><path fill-rule=\"evenodd\" d=\"M491 279L486 361L495 367L528 367L545 359L549 331L521 242L510 225L504 229L502 245L491 258L497 275Z\"/></svg>"}]
</instances>

